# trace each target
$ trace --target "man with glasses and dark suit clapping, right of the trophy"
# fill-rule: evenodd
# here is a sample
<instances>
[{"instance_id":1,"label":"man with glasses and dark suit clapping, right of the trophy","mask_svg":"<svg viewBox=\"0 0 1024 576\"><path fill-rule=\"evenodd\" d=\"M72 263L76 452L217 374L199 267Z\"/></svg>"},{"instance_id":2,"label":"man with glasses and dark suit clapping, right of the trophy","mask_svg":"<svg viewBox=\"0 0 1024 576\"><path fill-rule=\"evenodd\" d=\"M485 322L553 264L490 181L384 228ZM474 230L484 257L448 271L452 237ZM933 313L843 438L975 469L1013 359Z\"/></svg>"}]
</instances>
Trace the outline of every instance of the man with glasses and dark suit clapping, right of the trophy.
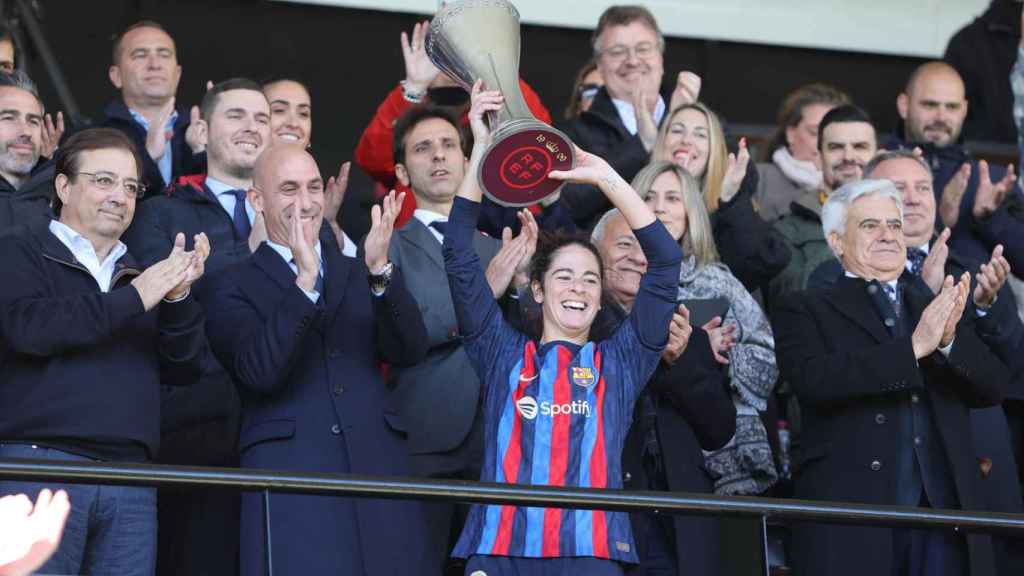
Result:
<instances>
[{"instance_id":1,"label":"man with glasses and dark suit clapping, right of the trophy","mask_svg":"<svg viewBox=\"0 0 1024 576\"><path fill-rule=\"evenodd\" d=\"M660 95L665 38L643 6L605 10L593 43L604 87L567 132L580 148L604 158L630 180L650 160L662 120L672 110L696 101L700 78L681 72L668 100ZM562 198L577 225L588 230L611 207L594 187L566 184Z\"/></svg>"}]
</instances>

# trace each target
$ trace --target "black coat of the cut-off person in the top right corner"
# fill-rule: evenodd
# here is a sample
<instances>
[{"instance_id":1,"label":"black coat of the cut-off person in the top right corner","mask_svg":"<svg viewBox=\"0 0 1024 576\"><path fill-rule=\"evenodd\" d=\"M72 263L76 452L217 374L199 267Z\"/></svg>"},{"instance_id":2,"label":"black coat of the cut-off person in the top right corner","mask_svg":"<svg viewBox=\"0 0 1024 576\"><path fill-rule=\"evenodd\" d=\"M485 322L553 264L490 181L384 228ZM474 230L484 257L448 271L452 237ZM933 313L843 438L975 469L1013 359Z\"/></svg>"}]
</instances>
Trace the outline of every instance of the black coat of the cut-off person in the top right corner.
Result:
<instances>
[{"instance_id":1,"label":"black coat of the cut-off person in the top right corner","mask_svg":"<svg viewBox=\"0 0 1024 576\"><path fill-rule=\"evenodd\" d=\"M964 78L970 104L964 124L966 137L1017 141L1010 71L1017 60L1020 37L1020 2L993 0L985 13L949 39L943 59Z\"/></svg>"}]
</instances>

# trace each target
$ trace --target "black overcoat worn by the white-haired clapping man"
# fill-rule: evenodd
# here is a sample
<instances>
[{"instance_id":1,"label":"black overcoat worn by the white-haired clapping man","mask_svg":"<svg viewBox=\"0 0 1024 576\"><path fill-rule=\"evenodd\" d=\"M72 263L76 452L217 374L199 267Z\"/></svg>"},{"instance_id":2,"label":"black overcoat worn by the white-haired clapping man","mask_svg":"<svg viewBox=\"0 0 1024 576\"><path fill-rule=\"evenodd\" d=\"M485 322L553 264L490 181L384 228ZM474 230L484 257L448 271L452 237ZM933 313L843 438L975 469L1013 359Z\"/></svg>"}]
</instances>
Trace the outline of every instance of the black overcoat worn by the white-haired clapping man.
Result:
<instances>
[{"instance_id":1,"label":"black overcoat worn by the white-haired clapping man","mask_svg":"<svg viewBox=\"0 0 1024 576\"><path fill-rule=\"evenodd\" d=\"M907 275L903 280L912 327L932 296L920 279ZM964 508L983 508L969 408L1002 401L1006 368L969 318L957 326L948 359L935 352L919 365L912 328L905 336L891 336L869 288L862 280L843 277L825 291L784 296L774 311L778 365L793 384L803 418L795 495L894 504L900 453L893 442L894 422L908 398L927 388L956 497ZM968 543L972 574L990 574L990 538L969 536ZM798 574L888 574L892 530L800 525L794 529L794 549Z\"/></svg>"}]
</instances>

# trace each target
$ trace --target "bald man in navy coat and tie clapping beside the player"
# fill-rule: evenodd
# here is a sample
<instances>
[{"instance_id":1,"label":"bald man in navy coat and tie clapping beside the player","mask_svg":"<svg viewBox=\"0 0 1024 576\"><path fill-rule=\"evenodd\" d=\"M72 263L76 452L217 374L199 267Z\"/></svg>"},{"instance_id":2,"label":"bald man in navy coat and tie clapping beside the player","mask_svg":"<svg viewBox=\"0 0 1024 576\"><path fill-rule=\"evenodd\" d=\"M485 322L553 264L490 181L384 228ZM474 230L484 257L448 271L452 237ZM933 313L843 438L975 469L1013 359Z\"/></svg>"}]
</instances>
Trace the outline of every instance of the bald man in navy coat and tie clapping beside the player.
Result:
<instances>
[{"instance_id":1,"label":"bald man in navy coat and tie clapping beside the player","mask_svg":"<svg viewBox=\"0 0 1024 576\"><path fill-rule=\"evenodd\" d=\"M387 259L401 198L373 209L366 262L343 256L323 224L324 179L301 147L275 145L256 164L249 199L267 241L211 278L214 353L242 397L244 467L408 475L384 420L379 362L422 361L427 335L401 272ZM242 501L241 568L262 574L420 574L421 506L397 500L275 494ZM269 541L266 553L264 542Z\"/></svg>"}]
</instances>

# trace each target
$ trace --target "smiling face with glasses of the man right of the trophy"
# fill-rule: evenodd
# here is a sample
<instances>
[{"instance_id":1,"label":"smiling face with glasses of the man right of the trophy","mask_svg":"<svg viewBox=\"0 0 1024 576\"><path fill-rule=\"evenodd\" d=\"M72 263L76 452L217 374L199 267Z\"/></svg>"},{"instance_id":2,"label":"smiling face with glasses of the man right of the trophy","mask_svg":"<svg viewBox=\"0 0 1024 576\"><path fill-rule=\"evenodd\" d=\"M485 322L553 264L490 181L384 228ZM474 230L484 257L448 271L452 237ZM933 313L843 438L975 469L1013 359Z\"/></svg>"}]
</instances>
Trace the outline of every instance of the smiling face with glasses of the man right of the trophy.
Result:
<instances>
[{"instance_id":1,"label":"smiling face with glasses of the man right of the trophy","mask_svg":"<svg viewBox=\"0 0 1024 576\"><path fill-rule=\"evenodd\" d=\"M640 87L656 95L665 73L657 34L646 24L635 20L626 26L610 26L597 41L597 69L604 78L608 95L633 101Z\"/></svg>"}]
</instances>

